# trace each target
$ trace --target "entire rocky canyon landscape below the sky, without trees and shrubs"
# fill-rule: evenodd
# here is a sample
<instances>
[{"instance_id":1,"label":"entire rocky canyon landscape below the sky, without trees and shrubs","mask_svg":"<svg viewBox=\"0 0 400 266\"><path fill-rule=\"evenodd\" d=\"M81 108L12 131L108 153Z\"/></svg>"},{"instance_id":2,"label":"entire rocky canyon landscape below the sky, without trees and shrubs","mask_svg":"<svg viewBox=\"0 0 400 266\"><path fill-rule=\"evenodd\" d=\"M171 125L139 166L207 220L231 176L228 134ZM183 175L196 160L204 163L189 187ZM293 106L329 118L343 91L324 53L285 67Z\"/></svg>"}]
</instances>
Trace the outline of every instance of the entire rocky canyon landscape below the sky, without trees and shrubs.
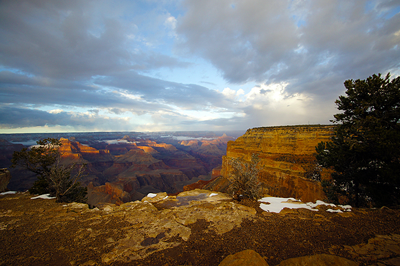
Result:
<instances>
[{"instance_id":1,"label":"entire rocky canyon landscape below the sky, without trees and shrubs","mask_svg":"<svg viewBox=\"0 0 400 266\"><path fill-rule=\"evenodd\" d=\"M32 173L1 170L19 192L0 193L0 265L399 265L399 210L321 201L330 173L315 145L332 134L303 125L3 135L3 168L34 140L61 140L61 162L87 166L88 204L34 197ZM268 197L232 199L229 161L254 153Z\"/></svg>"}]
</instances>

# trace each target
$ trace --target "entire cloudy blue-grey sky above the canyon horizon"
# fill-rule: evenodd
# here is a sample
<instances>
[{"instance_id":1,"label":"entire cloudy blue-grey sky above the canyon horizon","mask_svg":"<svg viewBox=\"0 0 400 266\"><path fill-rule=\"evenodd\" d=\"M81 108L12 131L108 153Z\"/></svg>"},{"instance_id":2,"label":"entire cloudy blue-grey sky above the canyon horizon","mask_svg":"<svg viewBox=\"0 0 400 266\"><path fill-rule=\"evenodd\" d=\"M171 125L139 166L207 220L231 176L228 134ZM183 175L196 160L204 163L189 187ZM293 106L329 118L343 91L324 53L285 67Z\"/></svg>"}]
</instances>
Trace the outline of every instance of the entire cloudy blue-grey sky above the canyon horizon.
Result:
<instances>
[{"instance_id":1,"label":"entire cloudy blue-grey sky above the canyon horizon","mask_svg":"<svg viewBox=\"0 0 400 266\"><path fill-rule=\"evenodd\" d=\"M0 1L0 133L329 124L399 67L399 0Z\"/></svg>"}]
</instances>

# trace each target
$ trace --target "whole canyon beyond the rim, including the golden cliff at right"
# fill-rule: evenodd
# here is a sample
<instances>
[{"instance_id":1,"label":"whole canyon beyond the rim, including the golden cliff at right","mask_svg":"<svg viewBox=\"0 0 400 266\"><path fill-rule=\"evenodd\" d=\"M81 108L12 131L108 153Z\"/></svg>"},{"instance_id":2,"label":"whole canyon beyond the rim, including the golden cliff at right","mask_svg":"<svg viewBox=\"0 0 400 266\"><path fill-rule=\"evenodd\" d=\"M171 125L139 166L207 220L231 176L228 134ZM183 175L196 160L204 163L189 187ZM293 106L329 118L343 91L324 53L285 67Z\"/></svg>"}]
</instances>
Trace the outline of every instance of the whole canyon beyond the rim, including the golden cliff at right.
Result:
<instances>
[{"instance_id":1,"label":"whole canyon beyond the rim, including the golden cliff at right","mask_svg":"<svg viewBox=\"0 0 400 266\"><path fill-rule=\"evenodd\" d=\"M332 135L333 126L303 125L254 128L237 138L225 133L208 137L163 133L146 138L127 133L118 140L70 136L60 138L60 152L63 164L86 164L87 175L81 183L88 188L91 205L120 205L149 192L173 194L195 188L228 192L230 160L249 162L253 153L260 158L262 195L315 202L326 199L319 180L329 178L328 171L317 166L315 146ZM21 147L2 143L3 150L8 147L9 151L3 157ZM32 183L34 177L22 181L18 178L22 170L18 171L17 178L12 173L11 188L16 182L19 186ZM17 190L23 189L27 188Z\"/></svg>"}]
</instances>

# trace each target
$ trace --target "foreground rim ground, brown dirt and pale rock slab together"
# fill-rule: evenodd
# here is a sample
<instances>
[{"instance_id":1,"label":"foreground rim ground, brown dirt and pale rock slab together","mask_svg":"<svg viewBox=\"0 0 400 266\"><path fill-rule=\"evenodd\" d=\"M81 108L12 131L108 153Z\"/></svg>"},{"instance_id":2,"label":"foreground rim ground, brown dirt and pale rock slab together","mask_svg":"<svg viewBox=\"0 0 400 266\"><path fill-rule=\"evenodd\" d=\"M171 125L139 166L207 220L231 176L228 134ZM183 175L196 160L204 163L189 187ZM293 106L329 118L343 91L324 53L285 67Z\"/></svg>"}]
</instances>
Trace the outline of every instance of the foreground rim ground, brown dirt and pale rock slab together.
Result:
<instances>
[{"instance_id":1,"label":"foreground rim ground, brown dirt and pale rock slab together","mask_svg":"<svg viewBox=\"0 0 400 266\"><path fill-rule=\"evenodd\" d=\"M269 265L313 254L400 265L400 211L389 208L275 214L208 190L92 210L31 197L0 196L0 265L218 265L242 250Z\"/></svg>"}]
</instances>

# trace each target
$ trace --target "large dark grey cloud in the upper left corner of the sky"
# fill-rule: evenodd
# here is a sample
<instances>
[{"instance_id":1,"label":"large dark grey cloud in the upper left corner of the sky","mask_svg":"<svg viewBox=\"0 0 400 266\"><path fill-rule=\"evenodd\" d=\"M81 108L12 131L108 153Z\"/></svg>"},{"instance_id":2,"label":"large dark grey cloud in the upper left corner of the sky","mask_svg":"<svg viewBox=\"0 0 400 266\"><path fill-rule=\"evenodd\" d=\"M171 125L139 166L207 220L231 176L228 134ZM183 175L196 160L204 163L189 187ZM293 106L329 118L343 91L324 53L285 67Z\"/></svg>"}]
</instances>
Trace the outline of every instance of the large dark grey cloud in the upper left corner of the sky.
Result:
<instances>
[{"instance_id":1,"label":"large dark grey cloud in the upper left corner of the sky","mask_svg":"<svg viewBox=\"0 0 400 266\"><path fill-rule=\"evenodd\" d=\"M170 56L143 52L136 24L123 23L121 17L126 14L111 5L105 1L3 1L1 65L63 79L187 65Z\"/></svg>"}]
</instances>

